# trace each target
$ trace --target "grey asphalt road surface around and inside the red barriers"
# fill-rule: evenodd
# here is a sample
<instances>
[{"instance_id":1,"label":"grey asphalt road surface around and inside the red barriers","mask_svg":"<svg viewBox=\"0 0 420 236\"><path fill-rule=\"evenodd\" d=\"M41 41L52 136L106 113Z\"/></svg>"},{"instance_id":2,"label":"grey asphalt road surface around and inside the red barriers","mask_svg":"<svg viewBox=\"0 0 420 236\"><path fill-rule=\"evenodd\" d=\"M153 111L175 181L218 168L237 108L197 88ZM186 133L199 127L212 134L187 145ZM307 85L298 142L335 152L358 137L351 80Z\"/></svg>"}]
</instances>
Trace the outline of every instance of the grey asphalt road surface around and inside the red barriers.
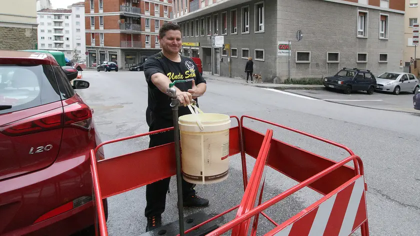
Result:
<instances>
[{"instance_id":1,"label":"grey asphalt road surface around and inside the red barriers","mask_svg":"<svg viewBox=\"0 0 420 236\"><path fill-rule=\"evenodd\" d=\"M147 86L143 72L83 71L88 89L78 93L94 109L94 121L102 141L125 137L148 130L145 122ZM387 95L387 94L386 94ZM369 99L371 98L368 95ZM389 99L395 97L390 96ZM402 96L398 96L400 99ZM359 101L362 104L364 101ZM365 167L368 185L367 213L370 235L418 235L420 232L420 115L362 108L307 99L258 87L207 80L207 92L199 98L204 112L228 115L248 114L297 128L351 148ZM234 120L232 119L232 124ZM265 133L266 126L246 121L245 125ZM274 137L330 159L341 160L345 151L302 135L274 129ZM106 145L106 158L146 148L148 137ZM151 157L152 158L152 157ZM254 161L248 158L248 174ZM350 164L351 165L351 164ZM147 163L138 166L149 168ZM206 213L219 213L239 204L243 194L239 156L230 157L229 177L213 185L197 185L198 195L210 200ZM272 169L266 171L263 200L296 184ZM176 179L170 182L163 223L177 219ZM109 235L140 235L144 232L145 187L108 199ZM283 222L321 197L304 188L265 212L278 223ZM198 210L185 210L185 215ZM234 217L227 214L224 222ZM260 217L258 235L273 226ZM354 235L359 235L357 230Z\"/></svg>"}]
</instances>

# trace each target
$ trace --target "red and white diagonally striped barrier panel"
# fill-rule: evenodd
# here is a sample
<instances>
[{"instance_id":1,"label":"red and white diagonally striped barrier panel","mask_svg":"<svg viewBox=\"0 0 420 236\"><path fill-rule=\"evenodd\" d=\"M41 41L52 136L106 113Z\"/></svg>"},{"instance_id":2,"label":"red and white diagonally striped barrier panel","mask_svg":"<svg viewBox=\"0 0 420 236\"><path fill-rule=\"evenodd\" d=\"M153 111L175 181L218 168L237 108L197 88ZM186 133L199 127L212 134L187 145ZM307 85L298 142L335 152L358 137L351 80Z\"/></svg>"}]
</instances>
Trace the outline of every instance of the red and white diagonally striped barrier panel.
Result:
<instances>
[{"instance_id":1,"label":"red and white diagonally striped barrier panel","mask_svg":"<svg viewBox=\"0 0 420 236\"><path fill-rule=\"evenodd\" d=\"M265 235L347 236L366 220L364 178L358 175Z\"/></svg>"}]
</instances>

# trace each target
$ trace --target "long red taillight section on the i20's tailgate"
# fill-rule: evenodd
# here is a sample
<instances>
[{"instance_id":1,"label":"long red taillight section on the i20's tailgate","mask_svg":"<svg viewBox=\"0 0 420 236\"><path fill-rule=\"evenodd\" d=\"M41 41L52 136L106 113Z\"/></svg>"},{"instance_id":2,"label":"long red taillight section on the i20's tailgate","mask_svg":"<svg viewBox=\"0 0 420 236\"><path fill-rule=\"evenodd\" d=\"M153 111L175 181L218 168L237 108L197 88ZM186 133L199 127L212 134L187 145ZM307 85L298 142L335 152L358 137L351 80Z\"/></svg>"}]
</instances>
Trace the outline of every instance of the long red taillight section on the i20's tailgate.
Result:
<instances>
[{"instance_id":1,"label":"long red taillight section on the i20's tailgate","mask_svg":"<svg viewBox=\"0 0 420 236\"><path fill-rule=\"evenodd\" d=\"M61 127L62 108L55 108L12 123L0 126L0 132L8 136L20 136Z\"/></svg>"}]
</instances>

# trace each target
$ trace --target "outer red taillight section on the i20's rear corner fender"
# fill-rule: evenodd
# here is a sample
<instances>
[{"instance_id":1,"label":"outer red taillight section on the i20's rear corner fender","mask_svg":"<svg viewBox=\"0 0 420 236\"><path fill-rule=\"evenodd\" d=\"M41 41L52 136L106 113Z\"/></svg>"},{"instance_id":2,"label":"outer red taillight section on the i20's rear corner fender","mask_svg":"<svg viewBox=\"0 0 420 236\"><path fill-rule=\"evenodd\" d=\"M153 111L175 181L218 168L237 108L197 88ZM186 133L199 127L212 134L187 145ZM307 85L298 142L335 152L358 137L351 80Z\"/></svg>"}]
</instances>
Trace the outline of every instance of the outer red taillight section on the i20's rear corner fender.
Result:
<instances>
[{"instance_id":1,"label":"outer red taillight section on the i20's rear corner fender","mask_svg":"<svg viewBox=\"0 0 420 236\"><path fill-rule=\"evenodd\" d=\"M92 110L84 103L64 106L64 126L80 127L89 130L92 124Z\"/></svg>"}]
</instances>

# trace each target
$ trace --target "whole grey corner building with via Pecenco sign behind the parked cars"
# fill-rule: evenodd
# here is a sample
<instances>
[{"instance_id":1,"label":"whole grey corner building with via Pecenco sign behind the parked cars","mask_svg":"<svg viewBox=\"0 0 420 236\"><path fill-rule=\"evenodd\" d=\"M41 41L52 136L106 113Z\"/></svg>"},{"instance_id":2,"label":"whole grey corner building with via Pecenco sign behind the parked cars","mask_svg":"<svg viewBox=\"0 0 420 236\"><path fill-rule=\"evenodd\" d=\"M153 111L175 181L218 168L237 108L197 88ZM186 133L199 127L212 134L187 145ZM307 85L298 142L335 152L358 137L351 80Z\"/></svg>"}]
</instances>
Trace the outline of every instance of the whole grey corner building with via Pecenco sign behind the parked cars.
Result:
<instances>
[{"instance_id":1,"label":"whole grey corner building with via Pecenco sign behind the parked cars","mask_svg":"<svg viewBox=\"0 0 420 236\"><path fill-rule=\"evenodd\" d=\"M214 74L245 77L249 56L266 82L342 67L403 69L404 0L174 0L173 9L171 20L183 28L181 53L199 55ZM229 49L212 49L211 36L222 36Z\"/></svg>"}]
</instances>

